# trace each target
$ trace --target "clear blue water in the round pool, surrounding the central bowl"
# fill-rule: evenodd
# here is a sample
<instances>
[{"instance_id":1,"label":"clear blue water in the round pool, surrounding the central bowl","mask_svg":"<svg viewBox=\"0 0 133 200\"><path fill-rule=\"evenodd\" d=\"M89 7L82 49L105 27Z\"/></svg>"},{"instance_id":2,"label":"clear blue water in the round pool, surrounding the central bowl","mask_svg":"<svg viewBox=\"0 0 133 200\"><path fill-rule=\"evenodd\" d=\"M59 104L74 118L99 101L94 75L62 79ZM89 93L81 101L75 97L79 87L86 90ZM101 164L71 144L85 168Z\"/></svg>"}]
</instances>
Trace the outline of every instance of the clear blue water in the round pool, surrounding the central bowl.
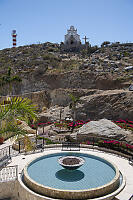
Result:
<instances>
[{"instance_id":1,"label":"clear blue water in the round pool, surrounding the central bowl","mask_svg":"<svg viewBox=\"0 0 133 200\"><path fill-rule=\"evenodd\" d=\"M65 155L80 156L85 163L74 171L64 169L58 163L58 158ZM111 182L116 175L113 165L100 157L65 152L42 156L31 162L27 171L37 183L61 190L97 188Z\"/></svg>"}]
</instances>

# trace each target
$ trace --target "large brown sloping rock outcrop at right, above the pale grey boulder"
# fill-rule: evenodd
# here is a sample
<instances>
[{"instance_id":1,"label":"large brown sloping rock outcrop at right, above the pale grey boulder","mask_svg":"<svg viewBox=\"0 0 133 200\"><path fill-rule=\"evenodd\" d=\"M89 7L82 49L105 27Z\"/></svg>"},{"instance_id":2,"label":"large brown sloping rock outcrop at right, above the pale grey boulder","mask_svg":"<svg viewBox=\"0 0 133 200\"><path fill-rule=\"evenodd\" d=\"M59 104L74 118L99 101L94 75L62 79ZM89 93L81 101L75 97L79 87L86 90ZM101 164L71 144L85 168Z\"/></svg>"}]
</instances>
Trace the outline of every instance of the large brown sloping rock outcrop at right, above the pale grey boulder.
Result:
<instances>
[{"instance_id":1,"label":"large brown sloping rock outcrop at right, above the pale grey boulder","mask_svg":"<svg viewBox=\"0 0 133 200\"><path fill-rule=\"evenodd\" d=\"M133 118L133 93L128 90L99 91L80 98L76 109L76 118L111 120Z\"/></svg>"}]
</instances>

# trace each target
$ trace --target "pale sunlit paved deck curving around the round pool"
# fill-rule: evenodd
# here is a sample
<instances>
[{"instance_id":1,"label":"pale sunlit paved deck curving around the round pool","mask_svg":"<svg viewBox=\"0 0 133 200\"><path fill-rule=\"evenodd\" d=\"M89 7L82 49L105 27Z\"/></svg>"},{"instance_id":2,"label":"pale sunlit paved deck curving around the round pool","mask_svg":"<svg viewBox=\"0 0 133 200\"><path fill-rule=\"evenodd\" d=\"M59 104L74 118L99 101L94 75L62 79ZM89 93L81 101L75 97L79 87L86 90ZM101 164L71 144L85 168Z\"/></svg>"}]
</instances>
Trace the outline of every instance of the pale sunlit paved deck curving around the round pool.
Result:
<instances>
[{"instance_id":1,"label":"pale sunlit paved deck curving around the round pool","mask_svg":"<svg viewBox=\"0 0 133 200\"><path fill-rule=\"evenodd\" d=\"M0 149L4 148L5 146L11 145L13 141L6 141L5 144L0 145ZM17 156L12 157L12 161L8 164L8 166L18 165L18 174L20 175L24 166L30 162L32 159L37 158L39 156L49 154L49 153L56 153L60 152L59 149L54 150L44 150L43 152L33 153L33 154L19 154ZM126 178L126 186L125 188L116 196L119 200L128 200L131 195L133 195L133 166L129 164L127 159L122 157L118 157L117 155L113 155L110 153L104 153L93 149L81 149L81 153L89 153L96 156L101 156L112 163L114 163L123 176ZM5 183L6 184L6 183Z\"/></svg>"}]
</instances>

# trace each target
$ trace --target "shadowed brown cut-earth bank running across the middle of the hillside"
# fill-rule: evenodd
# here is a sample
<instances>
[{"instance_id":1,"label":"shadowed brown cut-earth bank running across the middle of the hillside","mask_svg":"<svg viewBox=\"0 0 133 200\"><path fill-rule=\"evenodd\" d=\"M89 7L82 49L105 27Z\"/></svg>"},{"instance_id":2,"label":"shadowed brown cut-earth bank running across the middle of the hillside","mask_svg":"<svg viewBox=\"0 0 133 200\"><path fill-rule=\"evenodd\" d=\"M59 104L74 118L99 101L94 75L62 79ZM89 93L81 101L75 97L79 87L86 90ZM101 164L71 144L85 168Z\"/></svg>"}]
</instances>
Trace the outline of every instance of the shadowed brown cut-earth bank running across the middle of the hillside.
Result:
<instances>
[{"instance_id":1,"label":"shadowed brown cut-earth bank running across the middle of the hillside","mask_svg":"<svg viewBox=\"0 0 133 200\"><path fill-rule=\"evenodd\" d=\"M38 69L39 70L39 69ZM41 70L41 69L40 69ZM12 95L23 95L25 93L38 92L41 90L55 89L100 89L112 90L127 88L130 84L123 83L121 79L111 77L107 74L97 72L69 71L65 73L38 73L22 72L20 74L21 82L12 83ZM9 86L4 85L0 88L3 96L9 94Z\"/></svg>"}]
</instances>

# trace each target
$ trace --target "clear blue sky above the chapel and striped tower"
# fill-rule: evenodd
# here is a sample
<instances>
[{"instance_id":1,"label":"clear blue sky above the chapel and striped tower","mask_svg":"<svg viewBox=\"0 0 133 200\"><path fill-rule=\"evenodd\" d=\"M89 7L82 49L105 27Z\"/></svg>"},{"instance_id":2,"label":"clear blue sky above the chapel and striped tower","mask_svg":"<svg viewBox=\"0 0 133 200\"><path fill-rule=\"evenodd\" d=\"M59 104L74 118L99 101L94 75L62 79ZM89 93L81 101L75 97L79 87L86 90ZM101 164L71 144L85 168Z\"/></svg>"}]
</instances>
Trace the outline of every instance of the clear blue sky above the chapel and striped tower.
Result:
<instances>
[{"instance_id":1,"label":"clear blue sky above the chapel and striped tower","mask_svg":"<svg viewBox=\"0 0 133 200\"><path fill-rule=\"evenodd\" d=\"M133 42L133 0L0 0L0 24L0 49L12 47L13 29L23 46L60 43L71 25L92 45Z\"/></svg>"}]
</instances>

